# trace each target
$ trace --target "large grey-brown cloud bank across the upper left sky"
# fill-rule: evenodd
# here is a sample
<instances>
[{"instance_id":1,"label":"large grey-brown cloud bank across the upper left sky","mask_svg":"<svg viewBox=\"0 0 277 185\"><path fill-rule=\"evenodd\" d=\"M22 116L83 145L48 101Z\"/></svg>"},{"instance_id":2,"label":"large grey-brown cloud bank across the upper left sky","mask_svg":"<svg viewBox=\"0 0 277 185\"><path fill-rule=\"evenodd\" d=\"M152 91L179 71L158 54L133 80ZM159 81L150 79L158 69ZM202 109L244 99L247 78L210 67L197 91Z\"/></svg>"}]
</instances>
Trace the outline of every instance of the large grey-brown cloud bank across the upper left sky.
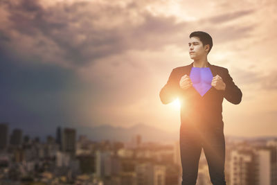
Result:
<instances>
[{"instance_id":1,"label":"large grey-brown cloud bank across the upper left sky","mask_svg":"<svg viewBox=\"0 0 277 185\"><path fill-rule=\"evenodd\" d=\"M136 3L130 3L133 7L130 9L92 2L47 9L29 0L21 0L19 4L6 1L6 4L12 23L9 29L17 30L22 37L33 37L36 42L46 37L60 49L57 55L78 65L129 49L161 49L166 44L179 42L176 33L186 27L176 24L174 17L154 17L147 11L134 10L139 8ZM134 23L132 12L141 23ZM1 32L16 44L10 30ZM39 42L37 46L49 47L46 42Z\"/></svg>"}]
</instances>

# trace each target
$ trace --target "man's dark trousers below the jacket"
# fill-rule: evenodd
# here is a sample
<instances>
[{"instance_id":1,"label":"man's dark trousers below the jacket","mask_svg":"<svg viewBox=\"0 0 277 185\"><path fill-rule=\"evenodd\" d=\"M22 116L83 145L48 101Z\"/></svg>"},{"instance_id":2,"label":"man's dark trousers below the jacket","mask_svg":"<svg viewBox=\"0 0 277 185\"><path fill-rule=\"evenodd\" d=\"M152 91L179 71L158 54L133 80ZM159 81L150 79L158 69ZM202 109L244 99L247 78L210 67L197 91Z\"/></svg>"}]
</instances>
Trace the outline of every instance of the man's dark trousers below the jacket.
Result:
<instances>
[{"instance_id":1,"label":"man's dark trousers below the jacket","mask_svg":"<svg viewBox=\"0 0 277 185\"><path fill-rule=\"evenodd\" d=\"M182 185L195 185L198 164L202 148L208 163L208 170L213 185L225 185L225 139L223 123L220 126L197 126L193 123L181 124L180 152L183 168Z\"/></svg>"}]
</instances>

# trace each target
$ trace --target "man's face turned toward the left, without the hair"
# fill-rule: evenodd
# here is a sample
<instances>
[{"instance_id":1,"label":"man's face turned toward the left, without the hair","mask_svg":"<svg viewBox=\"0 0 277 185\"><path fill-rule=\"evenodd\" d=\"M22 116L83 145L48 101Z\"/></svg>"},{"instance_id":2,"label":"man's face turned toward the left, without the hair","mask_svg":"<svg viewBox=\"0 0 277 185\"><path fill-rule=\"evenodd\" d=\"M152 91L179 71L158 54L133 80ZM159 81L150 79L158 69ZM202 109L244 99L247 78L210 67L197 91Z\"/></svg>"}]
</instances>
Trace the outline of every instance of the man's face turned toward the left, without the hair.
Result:
<instances>
[{"instance_id":1,"label":"man's face turned toward the left, without the hair","mask_svg":"<svg viewBox=\"0 0 277 185\"><path fill-rule=\"evenodd\" d=\"M203 58L208 55L208 45L204 47L198 37L191 37L188 42L188 52L193 60Z\"/></svg>"}]
</instances>

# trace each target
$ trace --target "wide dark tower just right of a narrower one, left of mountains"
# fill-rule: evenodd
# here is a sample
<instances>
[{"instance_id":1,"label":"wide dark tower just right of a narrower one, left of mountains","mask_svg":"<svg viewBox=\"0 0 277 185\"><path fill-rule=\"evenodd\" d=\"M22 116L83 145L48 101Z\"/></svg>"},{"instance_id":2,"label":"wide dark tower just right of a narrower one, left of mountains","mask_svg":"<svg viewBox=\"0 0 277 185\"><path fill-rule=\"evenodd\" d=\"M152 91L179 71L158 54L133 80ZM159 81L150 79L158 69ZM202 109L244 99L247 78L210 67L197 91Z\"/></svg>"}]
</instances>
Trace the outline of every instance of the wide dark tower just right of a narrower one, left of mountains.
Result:
<instances>
[{"instance_id":1,"label":"wide dark tower just right of a narrower one, left of mountains","mask_svg":"<svg viewBox=\"0 0 277 185\"><path fill-rule=\"evenodd\" d=\"M62 132L62 152L68 152L71 157L75 156L76 150L76 130L64 128Z\"/></svg>"}]
</instances>

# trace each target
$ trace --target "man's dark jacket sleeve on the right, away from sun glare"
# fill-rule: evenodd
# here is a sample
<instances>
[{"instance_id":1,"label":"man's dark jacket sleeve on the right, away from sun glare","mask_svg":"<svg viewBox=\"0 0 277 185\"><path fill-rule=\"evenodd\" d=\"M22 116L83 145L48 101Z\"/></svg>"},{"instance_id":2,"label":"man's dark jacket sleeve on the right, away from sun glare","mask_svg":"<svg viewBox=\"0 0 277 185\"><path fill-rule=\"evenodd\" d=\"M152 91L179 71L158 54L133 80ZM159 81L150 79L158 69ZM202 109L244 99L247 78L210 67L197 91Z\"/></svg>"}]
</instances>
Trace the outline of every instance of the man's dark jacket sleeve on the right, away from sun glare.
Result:
<instances>
[{"instance_id":1,"label":"man's dark jacket sleeve on the right, away from sun glare","mask_svg":"<svg viewBox=\"0 0 277 185\"><path fill-rule=\"evenodd\" d=\"M242 91L235 85L233 82L233 78L229 75L228 69L226 69L226 78L224 79L224 83L226 85L225 90L223 92L223 96L230 103L235 105L239 104L242 100Z\"/></svg>"}]
</instances>

